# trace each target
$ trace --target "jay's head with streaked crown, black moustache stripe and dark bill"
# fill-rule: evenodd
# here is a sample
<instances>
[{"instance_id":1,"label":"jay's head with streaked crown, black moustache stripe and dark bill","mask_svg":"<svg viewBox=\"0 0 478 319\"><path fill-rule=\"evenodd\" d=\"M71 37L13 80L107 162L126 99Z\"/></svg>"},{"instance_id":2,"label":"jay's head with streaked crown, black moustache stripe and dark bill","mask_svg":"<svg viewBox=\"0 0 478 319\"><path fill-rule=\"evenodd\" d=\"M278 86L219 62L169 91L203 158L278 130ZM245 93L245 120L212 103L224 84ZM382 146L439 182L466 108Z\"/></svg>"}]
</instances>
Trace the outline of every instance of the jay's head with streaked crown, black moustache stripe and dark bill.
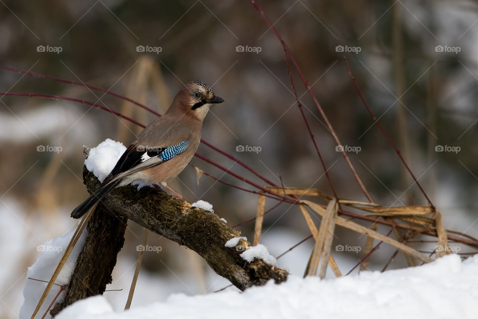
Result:
<instances>
[{"instance_id":1,"label":"jay's head with streaked crown, black moustache stripe and dark bill","mask_svg":"<svg viewBox=\"0 0 478 319\"><path fill-rule=\"evenodd\" d=\"M212 105L223 102L203 82L191 81L178 92L167 113L179 111L202 121Z\"/></svg>"}]
</instances>

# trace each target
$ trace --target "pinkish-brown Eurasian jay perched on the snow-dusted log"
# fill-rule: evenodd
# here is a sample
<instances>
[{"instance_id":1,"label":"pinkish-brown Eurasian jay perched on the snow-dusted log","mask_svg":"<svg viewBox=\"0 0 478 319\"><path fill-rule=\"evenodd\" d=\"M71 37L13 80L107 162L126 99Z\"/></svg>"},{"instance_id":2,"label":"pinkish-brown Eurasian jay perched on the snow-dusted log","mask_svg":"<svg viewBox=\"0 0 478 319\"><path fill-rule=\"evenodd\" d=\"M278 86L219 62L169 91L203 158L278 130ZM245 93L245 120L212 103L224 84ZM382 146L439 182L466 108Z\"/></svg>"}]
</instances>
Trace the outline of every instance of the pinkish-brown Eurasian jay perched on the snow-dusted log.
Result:
<instances>
[{"instance_id":1,"label":"pinkish-brown Eurasian jay perched on the snow-dusted log","mask_svg":"<svg viewBox=\"0 0 478 319\"><path fill-rule=\"evenodd\" d=\"M176 177L193 158L209 108L223 102L206 84L187 83L166 114L144 128L101 186L73 210L71 217L80 218L111 190L136 180L160 183L178 195L166 182Z\"/></svg>"}]
</instances>

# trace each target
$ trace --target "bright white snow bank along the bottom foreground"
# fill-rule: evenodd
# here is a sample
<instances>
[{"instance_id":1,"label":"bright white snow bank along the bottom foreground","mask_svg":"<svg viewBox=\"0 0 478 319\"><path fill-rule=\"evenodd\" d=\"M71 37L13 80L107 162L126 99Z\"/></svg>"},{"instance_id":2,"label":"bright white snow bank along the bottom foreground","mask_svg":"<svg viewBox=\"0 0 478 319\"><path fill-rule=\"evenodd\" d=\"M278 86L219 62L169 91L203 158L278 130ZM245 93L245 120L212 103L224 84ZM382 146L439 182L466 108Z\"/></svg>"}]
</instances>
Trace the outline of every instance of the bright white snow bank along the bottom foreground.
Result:
<instances>
[{"instance_id":1,"label":"bright white snow bank along the bottom foreground","mask_svg":"<svg viewBox=\"0 0 478 319\"><path fill-rule=\"evenodd\" d=\"M113 318L477 318L478 256L457 255L431 264L385 273L319 280L291 276L244 293L175 294L115 313L102 296L79 301L57 319Z\"/></svg>"}]
</instances>

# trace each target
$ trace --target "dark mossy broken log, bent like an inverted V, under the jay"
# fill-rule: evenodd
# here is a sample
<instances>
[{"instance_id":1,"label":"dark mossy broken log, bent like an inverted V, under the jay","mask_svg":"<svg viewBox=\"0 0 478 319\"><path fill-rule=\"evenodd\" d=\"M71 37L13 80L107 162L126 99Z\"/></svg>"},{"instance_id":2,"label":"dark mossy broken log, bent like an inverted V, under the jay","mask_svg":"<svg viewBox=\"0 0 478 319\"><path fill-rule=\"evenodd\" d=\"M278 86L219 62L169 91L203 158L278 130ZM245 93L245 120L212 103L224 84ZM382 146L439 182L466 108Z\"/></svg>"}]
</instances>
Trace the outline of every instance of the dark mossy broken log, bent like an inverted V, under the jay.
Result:
<instances>
[{"instance_id":1,"label":"dark mossy broken log, bent like an inverted V, under the jay","mask_svg":"<svg viewBox=\"0 0 478 319\"><path fill-rule=\"evenodd\" d=\"M93 173L83 170L84 183L90 193L100 185ZM73 302L103 294L111 283L116 257L124 242L127 219L197 252L220 276L240 290L276 283L287 279L287 272L260 259L248 263L239 254L249 247L240 240L235 248L226 242L240 236L220 217L210 211L191 207L191 203L171 198L150 187L139 191L127 185L116 188L98 204L88 223L88 236L78 257L65 301L57 304L52 315Z\"/></svg>"}]
</instances>

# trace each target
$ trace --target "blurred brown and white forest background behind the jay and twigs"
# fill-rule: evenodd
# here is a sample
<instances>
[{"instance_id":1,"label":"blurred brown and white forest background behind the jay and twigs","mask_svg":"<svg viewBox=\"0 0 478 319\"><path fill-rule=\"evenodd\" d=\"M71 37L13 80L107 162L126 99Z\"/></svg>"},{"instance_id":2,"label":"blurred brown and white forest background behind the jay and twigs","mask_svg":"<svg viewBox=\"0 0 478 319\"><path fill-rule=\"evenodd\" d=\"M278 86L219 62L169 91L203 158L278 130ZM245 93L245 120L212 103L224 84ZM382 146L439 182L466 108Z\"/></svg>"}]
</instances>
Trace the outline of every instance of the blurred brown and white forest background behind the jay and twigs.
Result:
<instances>
[{"instance_id":1,"label":"blurred brown and white forest background behind the jay and twigs","mask_svg":"<svg viewBox=\"0 0 478 319\"><path fill-rule=\"evenodd\" d=\"M344 146L359 148L348 154L373 199L384 206L427 205L373 126L343 56L370 108L442 212L445 227L477 236L477 2L256 2L290 47L339 139ZM331 194L291 93L281 43L249 1L3 0L0 38L0 66L99 86L160 113L183 83L203 81L226 101L207 117L204 140L277 184L281 178L289 187ZM138 46L151 52L138 52ZM292 73L337 193L366 200L297 73ZM143 124L154 119L101 92L6 70L0 70L0 91L79 98ZM82 183L82 146L94 147L106 138L128 146L141 129L89 105L37 97L1 96L0 114L0 317L16 318L27 267L40 253L37 246L77 225L70 212L88 195ZM237 152L238 146L260 147L260 152ZM61 152L48 152L51 147ZM204 145L198 153L264 184ZM252 189L203 160L192 163ZM198 182L192 167L170 184L191 202L212 203L231 225L255 216L256 195L205 175ZM266 209L276 203L266 200ZM253 223L240 230L252 239ZM310 235L299 208L289 204L265 216L263 231L262 242L275 256ZM334 246L363 246L366 239L343 234ZM117 310L124 307L141 238L142 229L129 222L110 288L123 291L106 293ZM145 253L131 307L171 293L213 292L228 285L185 248L154 234L148 243L162 250ZM311 240L305 242L281 258L279 266L301 276L312 246ZM372 255L370 270L380 270L393 253L385 246ZM343 272L363 257L355 252L334 256ZM390 269L405 266L401 255Z\"/></svg>"}]
</instances>

